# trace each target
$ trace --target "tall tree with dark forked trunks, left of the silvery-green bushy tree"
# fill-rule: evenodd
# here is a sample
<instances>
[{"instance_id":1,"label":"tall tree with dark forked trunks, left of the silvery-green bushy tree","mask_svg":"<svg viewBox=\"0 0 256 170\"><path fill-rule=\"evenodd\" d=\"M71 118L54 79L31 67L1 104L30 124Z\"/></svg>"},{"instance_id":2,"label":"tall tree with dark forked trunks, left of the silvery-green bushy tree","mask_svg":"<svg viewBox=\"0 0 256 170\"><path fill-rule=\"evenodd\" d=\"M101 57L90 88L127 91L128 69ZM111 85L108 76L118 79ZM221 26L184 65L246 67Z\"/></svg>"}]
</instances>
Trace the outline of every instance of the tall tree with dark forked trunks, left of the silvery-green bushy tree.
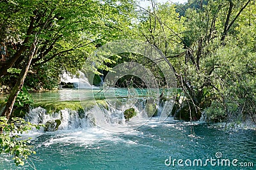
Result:
<instances>
[{"instance_id":1,"label":"tall tree with dark forked trunks, left of the silvery-green bushy tree","mask_svg":"<svg viewBox=\"0 0 256 170\"><path fill-rule=\"evenodd\" d=\"M214 59L216 50L232 37L237 18L248 4L250 1L207 1L199 9L187 10L183 85L195 116L211 104L214 90L218 90L212 75L218 62L209 59Z\"/></svg>"}]
</instances>

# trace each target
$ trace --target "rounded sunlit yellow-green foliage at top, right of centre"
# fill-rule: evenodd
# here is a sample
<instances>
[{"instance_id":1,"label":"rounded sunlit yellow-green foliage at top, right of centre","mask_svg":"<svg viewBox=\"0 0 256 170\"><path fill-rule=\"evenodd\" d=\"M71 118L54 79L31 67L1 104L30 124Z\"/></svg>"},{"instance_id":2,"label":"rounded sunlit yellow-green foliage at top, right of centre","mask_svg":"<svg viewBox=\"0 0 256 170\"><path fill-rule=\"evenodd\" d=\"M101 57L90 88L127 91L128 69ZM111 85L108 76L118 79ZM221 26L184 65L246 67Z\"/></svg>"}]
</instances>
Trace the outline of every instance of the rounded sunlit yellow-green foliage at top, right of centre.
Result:
<instances>
[{"instance_id":1,"label":"rounded sunlit yellow-green foliage at top, right of centre","mask_svg":"<svg viewBox=\"0 0 256 170\"><path fill-rule=\"evenodd\" d=\"M139 25L142 38L157 46L166 57L182 52L180 35L176 32L185 31L185 18L180 17L174 4L157 4L157 8L145 12Z\"/></svg>"}]
</instances>

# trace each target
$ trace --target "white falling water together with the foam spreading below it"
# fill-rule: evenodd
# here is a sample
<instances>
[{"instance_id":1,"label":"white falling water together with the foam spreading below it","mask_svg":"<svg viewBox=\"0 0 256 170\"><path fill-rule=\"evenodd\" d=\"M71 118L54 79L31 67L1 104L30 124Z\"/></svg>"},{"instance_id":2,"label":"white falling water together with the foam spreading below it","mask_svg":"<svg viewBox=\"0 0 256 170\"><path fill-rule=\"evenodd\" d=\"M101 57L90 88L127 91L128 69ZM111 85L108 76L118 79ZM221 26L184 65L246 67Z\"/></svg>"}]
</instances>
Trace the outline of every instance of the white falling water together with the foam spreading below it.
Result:
<instances>
[{"instance_id":1,"label":"white falling water together with the foam spreading below it","mask_svg":"<svg viewBox=\"0 0 256 170\"><path fill-rule=\"evenodd\" d=\"M143 104L144 103L137 105ZM44 129L40 129L40 131L34 130L29 132L29 134L23 134L22 136L31 137L33 139L38 138L45 133L51 136L51 138L47 139L37 147L42 145L51 146L58 143L62 143L63 145L76 143L80 146L90 147L94 143L99 143L100 141L124 143L124 145L138 145L136 141L120 138L119 134L143 135L143 132L137 131L136 128L144 124L151 128L157 127L157 125L159 125L158 117L148 120L148 117L145 117L147 113L140 111L140 107L134 106L134 109L140 114L131 118L129 122L126 122L124 111L128 106L129 104L127 104L127 106L122 106L122 109L116 109L108 104L108 110L100 108L100 106L94 106L85 113L64 109L58 111L58 113L52 113L50 115L47 114L47 111L44 108L34 108L29 111L29 114L26 117L31 123L45 124L49 120L59 119L61 120L61 125L58 127L57 131L44 132ZM145 121L146 119L147 121ZM169 119L170 118L167 120L168 122L170 122ZM143 124L141 122L143 122Z\"/></svg>"}]
</instances>

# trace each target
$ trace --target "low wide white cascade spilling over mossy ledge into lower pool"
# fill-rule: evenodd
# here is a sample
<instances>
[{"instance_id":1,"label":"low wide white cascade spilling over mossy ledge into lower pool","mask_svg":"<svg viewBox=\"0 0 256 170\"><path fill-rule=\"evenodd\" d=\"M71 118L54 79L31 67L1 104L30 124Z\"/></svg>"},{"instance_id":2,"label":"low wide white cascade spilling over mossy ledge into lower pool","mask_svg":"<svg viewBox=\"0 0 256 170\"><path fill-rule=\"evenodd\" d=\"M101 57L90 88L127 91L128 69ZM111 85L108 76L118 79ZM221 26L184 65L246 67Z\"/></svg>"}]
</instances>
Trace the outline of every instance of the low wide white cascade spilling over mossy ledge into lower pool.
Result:
<instances>
[{"instance_id":1,"label":"low wide white cascade spilling over mossy ledge into lower pool","mask_svg":"<svg viewBox=\"0 0 256 170\"><path fill-rule=\"evenodd\" d=\"M131 118L129 120L130 122L148 118L147 113L143 111L145 103L146 100L140 99L134 106L132 106L132 108L139 114L136 115L136 117ZM122 107L119 108L116 108L116 106L112 106L109 103L107 104L107 108L98 104L98 106L95 105L85 112L83 110L76 111L65 108L64 110L58 111L58 113L51 114L47 113L47 110L41 107L32 108L25 119L33 124L44 125L50 123L56 125L56 121L60 120L60 125L57 127L58 130L84 129L86 127L92 127L95 124L100 125L101 127L125 125L124 111L131 108L131 104L123 104ZM52 129L50 131L52 131Z\"/></svg>"}]
</instances>

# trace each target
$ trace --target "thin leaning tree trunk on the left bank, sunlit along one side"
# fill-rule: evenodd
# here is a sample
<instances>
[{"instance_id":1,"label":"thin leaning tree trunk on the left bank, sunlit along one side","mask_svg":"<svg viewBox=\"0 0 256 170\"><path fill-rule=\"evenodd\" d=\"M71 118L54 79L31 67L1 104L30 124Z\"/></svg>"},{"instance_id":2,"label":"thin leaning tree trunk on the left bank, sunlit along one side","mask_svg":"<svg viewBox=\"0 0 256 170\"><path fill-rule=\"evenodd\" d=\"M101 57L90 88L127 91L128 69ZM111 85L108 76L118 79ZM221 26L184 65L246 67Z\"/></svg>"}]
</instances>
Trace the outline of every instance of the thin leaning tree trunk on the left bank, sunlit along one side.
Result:
<instances>
[{"instance_id":1,"label":"thin leaning tree trunk on the left bank, sunlit along one side","mask_svg":"<svg viewBox=\"0 0 256 170\"><path fill-rule=\"evenodd\" d=\"M37 44L37 40L35 38L35 41L33 42L33 44L31 45L31 47L29 49L28 57L27 57L26 61L24 62L24 66L22 67L22 71L20 72L19 78L17 79L16 84L13 87L13 90L12 90L10 96L8 97L8 101L6 103L4 111L2 113L2 116L6 117L8 120L11 116L16 97L19 94L20 89L22 89L24 80L28 74L28 69L30 67L31 60L33 59L33 56L36 53L36 44Z\"/></svg>"}]
</instances>

